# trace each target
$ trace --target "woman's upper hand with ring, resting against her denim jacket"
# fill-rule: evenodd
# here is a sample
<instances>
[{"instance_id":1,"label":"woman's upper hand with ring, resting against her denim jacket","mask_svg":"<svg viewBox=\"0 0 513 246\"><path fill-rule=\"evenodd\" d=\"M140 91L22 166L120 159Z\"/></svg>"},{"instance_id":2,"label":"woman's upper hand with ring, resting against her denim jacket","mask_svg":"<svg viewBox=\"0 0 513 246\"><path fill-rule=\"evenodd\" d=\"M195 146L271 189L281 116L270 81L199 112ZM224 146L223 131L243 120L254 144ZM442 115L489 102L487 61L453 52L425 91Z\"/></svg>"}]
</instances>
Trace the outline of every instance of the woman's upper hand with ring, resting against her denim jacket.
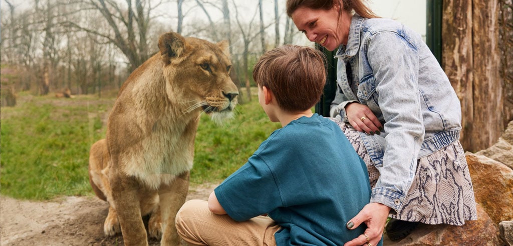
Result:
<instances>
[{"instance_id":1,"label":"woman's upper hand with ring, resting against her denim jacket","mask_svg":"<svg viewBox=\"0 0 513 246\"><path fill-rule=\"evenodd\" d=\"M346 105L346 116L349 124L359 131L373 135L383 131L383 126L376 115L366 105L359 103L350 103Z\"/></svg>"}]
</instances>

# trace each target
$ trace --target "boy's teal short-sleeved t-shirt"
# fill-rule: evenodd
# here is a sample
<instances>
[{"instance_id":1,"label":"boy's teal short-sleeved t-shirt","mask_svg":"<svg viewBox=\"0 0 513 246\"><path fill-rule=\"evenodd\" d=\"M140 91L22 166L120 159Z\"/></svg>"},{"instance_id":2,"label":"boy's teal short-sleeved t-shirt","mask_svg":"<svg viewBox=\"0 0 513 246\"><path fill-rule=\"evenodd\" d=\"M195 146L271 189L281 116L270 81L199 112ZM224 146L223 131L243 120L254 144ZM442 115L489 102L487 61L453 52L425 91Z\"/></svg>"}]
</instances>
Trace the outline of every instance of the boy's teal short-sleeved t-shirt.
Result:
<instances>
[{"instance_id":1,"label":"boy's teal short-sleeved t-shirt","mask_svg":"<svg viewBox=\"0 0 513 246\"><path fill-rule=\"evenodd\" d=\"M215 189L236 221L267 213L277 245L342 245L365 231L346 222L369 202L365 163L330 119L314 114L274 131Z\"/></svg>"}]
</instances>

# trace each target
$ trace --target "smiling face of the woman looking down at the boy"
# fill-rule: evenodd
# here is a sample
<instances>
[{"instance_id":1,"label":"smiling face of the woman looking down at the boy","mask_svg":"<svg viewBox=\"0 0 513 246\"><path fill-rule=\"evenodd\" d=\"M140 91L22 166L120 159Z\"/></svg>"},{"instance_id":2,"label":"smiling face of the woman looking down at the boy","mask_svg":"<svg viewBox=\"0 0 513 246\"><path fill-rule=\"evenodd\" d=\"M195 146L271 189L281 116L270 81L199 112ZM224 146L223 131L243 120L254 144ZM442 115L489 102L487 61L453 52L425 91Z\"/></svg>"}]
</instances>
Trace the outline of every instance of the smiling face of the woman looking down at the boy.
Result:
<instances>
[{"instance_id":1,"label":"smiling face of the woman looking down at the boy","mask_svg":"<svg viewBox=\"0 0 513 246\"><path fill-rule=\"evenodd\" d=\"M299 7L292 13L292 20L308 40L332 51L341 44L347 44L351 24L351 18L345 11L339 16L339 8L339 5L329 10Z\"/></svg>"}]
</instances>

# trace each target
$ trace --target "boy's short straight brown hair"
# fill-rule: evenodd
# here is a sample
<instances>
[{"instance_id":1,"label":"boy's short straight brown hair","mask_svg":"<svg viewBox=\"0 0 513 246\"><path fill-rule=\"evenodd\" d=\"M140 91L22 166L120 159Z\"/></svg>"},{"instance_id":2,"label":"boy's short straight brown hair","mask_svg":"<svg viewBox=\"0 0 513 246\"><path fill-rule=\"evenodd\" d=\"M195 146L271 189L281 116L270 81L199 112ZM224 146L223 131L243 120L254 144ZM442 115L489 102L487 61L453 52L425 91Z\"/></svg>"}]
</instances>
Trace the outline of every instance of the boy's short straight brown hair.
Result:
<instances>
[{"instance_id":1,"label":"boy's short straight brown hair","mask_svg":"<svg viewBox=\"0 0 513 246\"><path fill-rule=\"evenodd\" d=\"M260 57L253 68L253 79L274 94L283 110L304 111L321 98L326 83L324 61L324 54L313 48L281 46Z\"/></svg>"}]
</instances>

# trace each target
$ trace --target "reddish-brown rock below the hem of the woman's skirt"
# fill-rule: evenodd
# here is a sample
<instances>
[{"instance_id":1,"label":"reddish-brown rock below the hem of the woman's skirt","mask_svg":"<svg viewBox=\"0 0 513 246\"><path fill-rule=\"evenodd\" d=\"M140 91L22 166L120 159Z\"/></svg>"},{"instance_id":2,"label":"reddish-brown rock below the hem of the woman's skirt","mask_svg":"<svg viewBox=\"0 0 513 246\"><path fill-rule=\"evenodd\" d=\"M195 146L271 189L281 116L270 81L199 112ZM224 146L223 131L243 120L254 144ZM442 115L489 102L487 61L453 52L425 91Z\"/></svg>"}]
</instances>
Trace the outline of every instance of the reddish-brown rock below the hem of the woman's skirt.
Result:
<instances>
[{"instance_id":1,"label":"reddish-brown rock below the hem of the woman's skirt","mask_svg":"<svg viewBox=\"0 0 513 246\"><path fill-rule=\"evenodd\" d=\"M479 204L477 212L478 220L466 221L463 226L421 223L399 242L390 241L385 235L383 245L500 245L494 221Z\"/></svg>"}]
</instances>

